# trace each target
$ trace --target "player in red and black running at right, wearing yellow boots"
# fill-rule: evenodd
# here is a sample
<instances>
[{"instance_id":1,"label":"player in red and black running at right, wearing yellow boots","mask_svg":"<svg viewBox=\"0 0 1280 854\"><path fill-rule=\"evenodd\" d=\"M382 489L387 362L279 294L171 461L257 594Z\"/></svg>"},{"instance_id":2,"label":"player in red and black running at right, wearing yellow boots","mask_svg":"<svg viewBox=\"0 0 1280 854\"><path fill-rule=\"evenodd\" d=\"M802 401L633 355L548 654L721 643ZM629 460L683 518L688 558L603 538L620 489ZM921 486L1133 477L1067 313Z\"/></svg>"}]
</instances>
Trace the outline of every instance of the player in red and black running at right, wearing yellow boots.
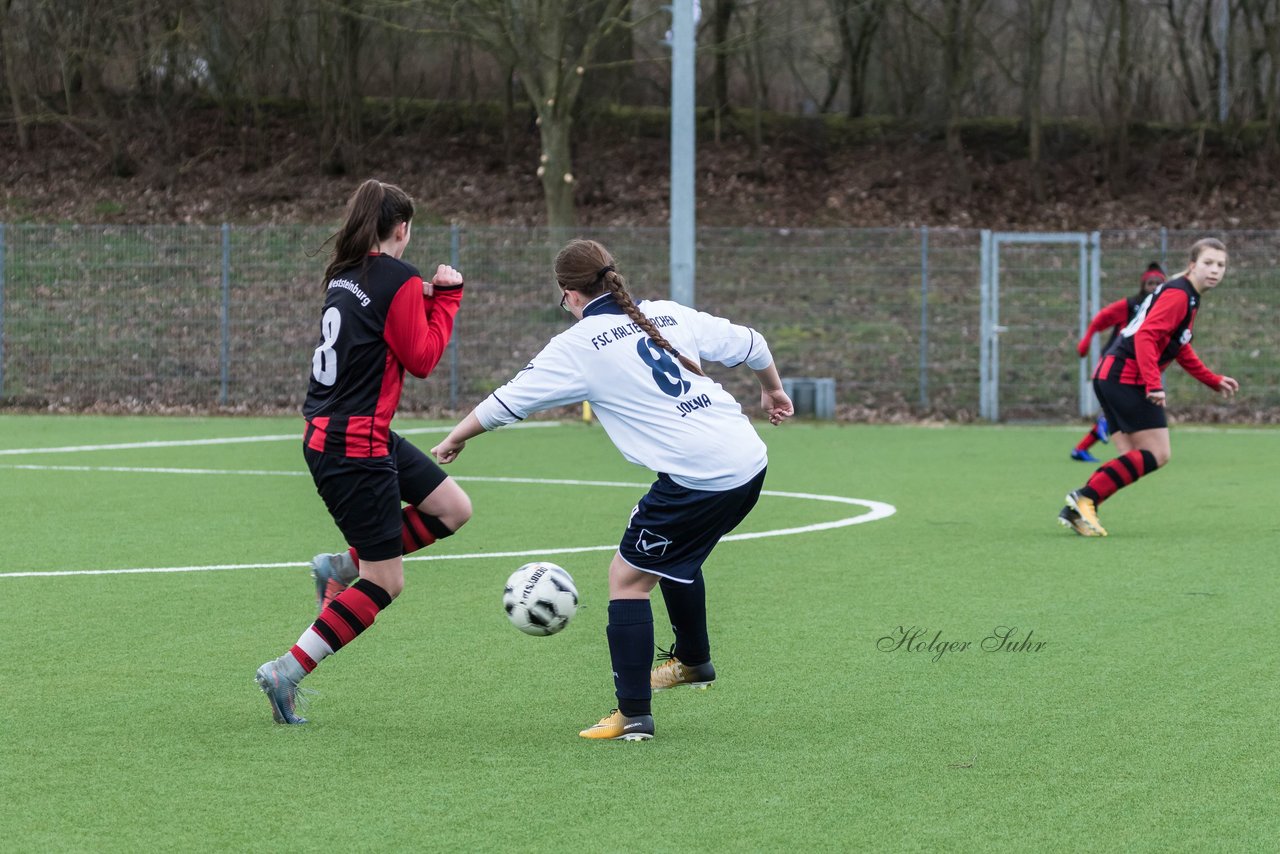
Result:
<instances>
[{"instance_id":1,"label":"player in red and black running at right, wearing yellow boots","mask_svg":"<svg viewBox=\"0 0 1280 854\"><path fill-rule=\"evenodd\" d=\"M1093 373L1093 391L1111 423L1120 456L1102 465L1066 497L1059 521L1084 536L1106 536L1097 507L1138 478L1169 462L1164 370L1176 361L1224 397L1240 384L1215 374L1192 350L1192 328L1202 294L1226 275L1226 247L1211 237L1192 246L1183 275L1160 286L1107 347Z\"/></svg>"}]
</instances>

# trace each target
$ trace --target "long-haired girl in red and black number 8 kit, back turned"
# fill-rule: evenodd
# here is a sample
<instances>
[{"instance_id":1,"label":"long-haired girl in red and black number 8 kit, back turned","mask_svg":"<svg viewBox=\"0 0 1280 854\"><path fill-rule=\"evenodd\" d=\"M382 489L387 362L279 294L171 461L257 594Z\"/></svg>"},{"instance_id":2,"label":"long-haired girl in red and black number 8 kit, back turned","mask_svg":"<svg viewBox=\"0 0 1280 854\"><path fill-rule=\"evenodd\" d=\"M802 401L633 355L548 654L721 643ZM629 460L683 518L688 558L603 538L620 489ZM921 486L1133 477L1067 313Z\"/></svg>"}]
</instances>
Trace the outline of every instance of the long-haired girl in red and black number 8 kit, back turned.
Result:
<instances>
[{"instance_id":1,"label":"long-haired girl in red and black number 8 kit, back turned","mask_svg":"<svg viewBox=\"0 0 1280 854\"><path fill-rule=\"evenodd\" d=\"M294 712L298 682L399 595L403 556L449 536L471 517L462 488L390 429L404 371L431 373L462 302L457 270L442 264L424 282L401 260L412 219L404 191L366 181L347 202L324 273L302 452L351 551L332 556L344 560L333 561L329 576L316 574L317 586L325 583L316 621L257 670L279 723L306 723Z\"/></svg>"}]
</instances>

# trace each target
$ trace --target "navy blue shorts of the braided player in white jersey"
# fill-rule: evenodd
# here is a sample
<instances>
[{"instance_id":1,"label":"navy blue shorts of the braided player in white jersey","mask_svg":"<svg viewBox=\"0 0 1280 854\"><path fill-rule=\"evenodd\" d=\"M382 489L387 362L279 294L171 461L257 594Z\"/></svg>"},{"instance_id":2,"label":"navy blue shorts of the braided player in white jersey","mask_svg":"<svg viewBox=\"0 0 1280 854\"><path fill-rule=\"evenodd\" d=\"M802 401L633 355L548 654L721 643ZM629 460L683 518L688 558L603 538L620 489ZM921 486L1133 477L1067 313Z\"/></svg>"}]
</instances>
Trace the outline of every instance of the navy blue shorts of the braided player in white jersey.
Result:
<instances>
[{"instance_id":1,"label":"navy blue shorts of the braided player in white jersey","mask_svg":"<svg viewBox=\"0 0 1280 854\"><path fill-rule=\"evenodd\" d=\"M667 475L649 488L631 511L618 553L643 572L692 584L721 538L755 507L764 469L741 487L724 492L686 489Z\"/></svg>"}]
</instances>

